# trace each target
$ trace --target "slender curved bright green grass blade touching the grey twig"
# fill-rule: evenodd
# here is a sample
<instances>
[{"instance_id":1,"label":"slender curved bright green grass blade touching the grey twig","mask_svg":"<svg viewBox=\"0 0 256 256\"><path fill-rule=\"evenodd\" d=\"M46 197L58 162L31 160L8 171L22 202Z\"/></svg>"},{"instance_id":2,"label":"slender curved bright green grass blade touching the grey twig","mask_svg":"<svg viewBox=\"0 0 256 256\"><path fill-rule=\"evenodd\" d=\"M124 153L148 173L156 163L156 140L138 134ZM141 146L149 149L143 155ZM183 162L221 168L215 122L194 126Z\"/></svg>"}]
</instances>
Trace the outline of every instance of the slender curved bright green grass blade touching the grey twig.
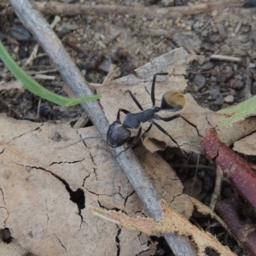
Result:
<instances>
[{"instance_id":1,"label":"slender curved bright green grass blade touching the grey twig","mask_svg":"<svg viewBox=\"0 0 256 256\"><path fill-rule=\"evenodd\" d=\"M8 51L4 48L0 40L0 59L2 59L4 65L9 68L10 72L15 76L16 79L30 90L33 94L40 96L41 98L48 100L49 102L54 102L61 106L73 106L82 102L88 102L92 100L97 100L101 98L101 95L86 96L83 98L68 98L64 96L59 96L54 92L45 89L41 84L32 79L31 76L26 74L12 59Z\"/></svg>"}]
</instances>

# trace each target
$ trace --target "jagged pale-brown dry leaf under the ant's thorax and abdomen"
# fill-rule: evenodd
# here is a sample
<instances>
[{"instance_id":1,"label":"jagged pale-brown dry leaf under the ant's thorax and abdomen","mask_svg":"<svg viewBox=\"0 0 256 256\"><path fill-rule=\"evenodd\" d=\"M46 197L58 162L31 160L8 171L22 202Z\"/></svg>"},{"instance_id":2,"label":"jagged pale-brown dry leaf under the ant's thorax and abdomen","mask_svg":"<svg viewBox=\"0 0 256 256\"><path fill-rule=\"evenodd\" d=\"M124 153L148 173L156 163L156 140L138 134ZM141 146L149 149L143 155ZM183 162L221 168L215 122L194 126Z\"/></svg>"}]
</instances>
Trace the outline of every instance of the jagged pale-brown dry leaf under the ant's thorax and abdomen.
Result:
<instances>
[{"instance_id":1,"label":"jagged pale-brown dry leaf under the ant's thorax and abdomen","mask_svg":"<svg viewBox=\"0 0 256 256\"><path fill-rule=\"evenodd\" d=\"M152 102L150 99L150 90L154 73L167 72L168 76L158 76L155 84L155 99L156 106L160 106L161 96L167 90L180 90L186 88L185 75L189 61L195 59L194 55L189 55L184 49L174 49L171 52L161 55L154 61L149 62L143 67L137 68L135 74L114 80L110 84L102 86L98 90L103 95L101 101L102 108L110 123L117 116L119 108L125 108L131 113L139 112L137 105L132 101L131 96L126 90L137 97L143 109L151 108ZM201 108L190 94L184 95L186 104L185 107L178 112L160 111L161 117L169 117L180 113L184 118L197 126L200 136L194 127L186 123L183 119L178 118L170 122L156 120L178 143L180 148L185 151L201 153L199 142L206 131L212 127L216 128L218 124L227 119L225 116L214 113L208 108ZM121 113L121 120L124 119L124 114ZM219 130L218 136L224 138L224 142L231 144L237 139L246 136L256 130L256 120L241 122L231 127L229 130ZM143 129L148 128L149 123L143 124ZM148 132L143 143L150 152L163 150L166 145L177 147L172 140L163 132L159 131L154 125Z\"/></svg>"}]
</instances>

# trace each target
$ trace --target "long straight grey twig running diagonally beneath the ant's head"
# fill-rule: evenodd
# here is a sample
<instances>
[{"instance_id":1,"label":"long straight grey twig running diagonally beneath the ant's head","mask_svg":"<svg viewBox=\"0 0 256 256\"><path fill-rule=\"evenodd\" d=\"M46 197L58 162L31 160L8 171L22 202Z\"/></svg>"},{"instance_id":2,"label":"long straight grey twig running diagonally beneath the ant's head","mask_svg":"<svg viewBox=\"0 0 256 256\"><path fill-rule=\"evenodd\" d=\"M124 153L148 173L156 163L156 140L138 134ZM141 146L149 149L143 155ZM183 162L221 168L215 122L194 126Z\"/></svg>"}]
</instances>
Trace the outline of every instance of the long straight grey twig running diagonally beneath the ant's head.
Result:
<instances>
[{"instance_id":1,"label":"long straight grey twig running diagonally beneath the ant's head","mask_svg":"<svg viewBox=\"0 0 256 256\"><path fill-rule=\"evenodd\" d=\"M44 20L43 15L28 0L10 0L10 3L16 15L32 32L38 43L41 44L44 51L55 63L55 67L61 73L62 79L73 90L74 95L79 97L92 95L88 83L80 74L78 67L75 66L67 51L63 48L55 32L52 31L47 21ZM72 13L71 9L68 10ZM109 124L98 102L85 102L81 105L102 137L105 138ZM118 148L116 150L117 154L123 149L124 147ZM112 149L111 151L113 152ZM145 172L143 172L143 167L132 150L127 150L125 153L120 154L118 161L152 217L159 221L163 213L160 207L160 195L157 194L154 185L150 182L148 176L145 175ZM183 237L177 237L173 234L167 234L165 237L176 255L196 255L189 241Z\"/></svg>"}]
</instances>

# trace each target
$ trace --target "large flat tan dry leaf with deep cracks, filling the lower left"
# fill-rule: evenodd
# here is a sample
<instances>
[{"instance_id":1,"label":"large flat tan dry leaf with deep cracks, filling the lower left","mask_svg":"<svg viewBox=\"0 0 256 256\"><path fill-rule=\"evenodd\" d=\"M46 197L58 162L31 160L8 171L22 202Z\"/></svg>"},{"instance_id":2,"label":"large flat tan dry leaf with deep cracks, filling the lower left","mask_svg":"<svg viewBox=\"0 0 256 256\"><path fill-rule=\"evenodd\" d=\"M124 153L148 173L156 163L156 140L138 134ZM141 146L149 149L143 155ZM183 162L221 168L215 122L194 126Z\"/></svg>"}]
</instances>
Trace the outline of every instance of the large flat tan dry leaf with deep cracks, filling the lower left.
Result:
<instances>
[{"instance_id":1,"label":"large flat tan dry leaf with deep cracks, filling the lower left","mask_svg":"<svg viewBox=\"0 0 256 256\"><path fill-rule=\"evenodd\" d=\"M89 139L55 149L78 141L79 134L96 136L93 127L75 131L69 125L5 117L0 122L1 227L9 228L21 247L40 256L111 255L117 251L118 236L122 252L143 255L154 249L155 244L148 246L148 236L110 225L88 211L88 205L101 205L148 215L124 172L117 172L113 195L113 172L118 167L106 143ZM189 218L193 207L176 174L157 154L145 152L141 159L154 182L165 177L164 184L156 184L160 194ZM155 173L159 166L160 177ZM79 201L80 210L72 201L79 193L85 197Z\"/></svg>"}]
</instances>

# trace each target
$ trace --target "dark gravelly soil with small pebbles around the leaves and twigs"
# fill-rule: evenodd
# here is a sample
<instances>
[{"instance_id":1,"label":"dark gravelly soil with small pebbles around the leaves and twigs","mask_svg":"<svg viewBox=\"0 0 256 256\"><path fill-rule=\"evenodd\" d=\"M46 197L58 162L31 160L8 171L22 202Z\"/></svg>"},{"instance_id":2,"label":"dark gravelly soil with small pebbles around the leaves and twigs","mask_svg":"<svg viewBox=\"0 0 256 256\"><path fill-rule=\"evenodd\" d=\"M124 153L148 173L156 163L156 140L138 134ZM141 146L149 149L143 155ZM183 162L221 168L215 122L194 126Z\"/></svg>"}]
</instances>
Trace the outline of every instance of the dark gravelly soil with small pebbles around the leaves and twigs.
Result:
<instances>
[{"instance_id":1,"label":"dark gravelly soil with small pebbles around the leaves and twigs","mask_svg":"<svg viewBox=\"0 0 256 256\"><path fill-rule=\"evenodd\" d=\"M90 4L150 9L169 8L172 7L172 2L182 8L214 1L96 0L90 1ZM236 1L231 5L222 2L218 9L205 9L201 14L196 15L181 13L179 17L174 18L165 15L158 17L154 13L141 16L133 13L123 15L119 13L118 8L108 15L60 15L61 21L55 26L55 32L85 79L93 84L103 82L110 63L119 67L119 77L122 77L179 47L183 47L190 54L201 55L197 61L190 63L186 78L188 87L185 92L191 93L201 107L218 111L256 94L255 9L242 8L242 1L240 3ZM87 3L87 1L62 0L57 3ZM0 12L3 11L0 15L0 38L15 61L22 67L32 54L36 42L15 15L4 14L4 5L0 3L0 7ZM55 15L46 15L49 23L54 18ZM223 55L224 59L222 59ZM36 77L40 84L60 95L66 95L62 90L64 83L49 58L44 55L43 49L39 48L38 57L24 67L24 70L35 77L44 74L44 77ZM35 122L61 120L72 125L82 115L78 106L64 108L42 100L38 107L38 96L33 96L20 88L4 90L1 83L14 79L7 68L3 67L2 62L0 62L0 78L1 113L6 113L15 119ZM172 165L177 167L177 175L185 183L184 186L189 187L195 176L195 167L186 171L180 168L186 160L178 150L176 152L169 148L162 155L166 160L172 161ZM195 165L196 160L196 156L192 154L189 164ZM201 165L208 165L209 168L198 172L197 182L200 185L197 188L200 189L195 193L207 204L214 185L215 173L209 172L212 166L207 160L201 159ZM229 197L232 193L230 184L224 183L223 198ZM196 224L199 223L204 229L209 226L211 229L210 218L195 215L191 220ZM218 238L221 237L222 241L225 236L228 237L224 230L215 229L213 233ZM172 255L163 239L152 237L152 240L159 242L154 255ZM230 236L226 238L226 243L237 255L247 255ZM209 252L208 255L215 254Z\"/></svg>"}]
</instances>

